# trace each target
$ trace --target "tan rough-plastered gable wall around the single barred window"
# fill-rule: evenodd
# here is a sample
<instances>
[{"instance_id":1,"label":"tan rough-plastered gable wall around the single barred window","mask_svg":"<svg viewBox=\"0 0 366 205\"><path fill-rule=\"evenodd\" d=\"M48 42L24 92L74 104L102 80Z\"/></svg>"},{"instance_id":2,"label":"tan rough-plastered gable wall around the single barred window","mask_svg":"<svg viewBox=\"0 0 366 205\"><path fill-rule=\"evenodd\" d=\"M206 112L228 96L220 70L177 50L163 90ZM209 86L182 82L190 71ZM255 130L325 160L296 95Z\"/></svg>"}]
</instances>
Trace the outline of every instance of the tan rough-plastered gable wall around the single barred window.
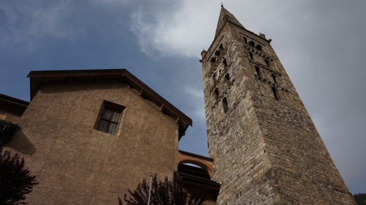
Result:
<instances>
[{"instance_id":1,"label":"tan rough-plastered gable wall around the single barred window","mask_svg":"<svg viewBox=\"0 0 366 205\"><path fill-rule=\"evenodd\" d=\"M176 170L178 126L121 83L42 86L5 144L39 185L29 204L116 204L155 172ZM117 135L93 129L103 100L125 106Z\"/></svg>"}]
</instances>

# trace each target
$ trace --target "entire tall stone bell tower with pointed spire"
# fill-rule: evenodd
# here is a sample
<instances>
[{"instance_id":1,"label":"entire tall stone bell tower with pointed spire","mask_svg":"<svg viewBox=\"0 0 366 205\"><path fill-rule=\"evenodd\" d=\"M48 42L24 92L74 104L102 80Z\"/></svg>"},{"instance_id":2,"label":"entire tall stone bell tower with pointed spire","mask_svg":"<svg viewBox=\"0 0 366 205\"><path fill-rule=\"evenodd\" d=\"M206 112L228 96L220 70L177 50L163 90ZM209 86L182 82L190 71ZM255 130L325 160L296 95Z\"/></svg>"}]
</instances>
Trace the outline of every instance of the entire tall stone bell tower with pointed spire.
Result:
<instances>
[{"instance_id":1,"label":"entire tall stone bell tower with pointed spire","mask_svg":"<svg viewBox=\"0 0 366 205\"><path fill-rule=\"evenodd\" d=\"M221 7L202 51L217 204L356 204L270 42Z\"/></svg>"}]
</instances>

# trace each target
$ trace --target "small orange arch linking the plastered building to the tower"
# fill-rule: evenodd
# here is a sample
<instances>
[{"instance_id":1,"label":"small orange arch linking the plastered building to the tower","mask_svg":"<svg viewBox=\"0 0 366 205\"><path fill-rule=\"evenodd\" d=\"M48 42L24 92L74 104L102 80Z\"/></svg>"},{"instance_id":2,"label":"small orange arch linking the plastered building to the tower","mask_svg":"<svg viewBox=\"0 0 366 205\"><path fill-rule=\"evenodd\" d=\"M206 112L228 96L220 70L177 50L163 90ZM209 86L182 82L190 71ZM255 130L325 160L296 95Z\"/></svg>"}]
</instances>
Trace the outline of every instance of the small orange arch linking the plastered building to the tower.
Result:
<instances>
[{"instance_id":1,"label":"small orange arch linking the plastered building to the tower","mask_svg":"<svg viewBox=\"0 0 366 205\"><path fill-rule=\"evenodd\" d=\"M177 155L177 164L184 164L184 163L192 163L197 166L202 167L208 175L210 175L210 178L212 177L212 174L214 173L214 168L212 165L213 159L207 156L202 156L198 154L194 154L187 151L178 150Z\"/></svg>"}]
</instances>

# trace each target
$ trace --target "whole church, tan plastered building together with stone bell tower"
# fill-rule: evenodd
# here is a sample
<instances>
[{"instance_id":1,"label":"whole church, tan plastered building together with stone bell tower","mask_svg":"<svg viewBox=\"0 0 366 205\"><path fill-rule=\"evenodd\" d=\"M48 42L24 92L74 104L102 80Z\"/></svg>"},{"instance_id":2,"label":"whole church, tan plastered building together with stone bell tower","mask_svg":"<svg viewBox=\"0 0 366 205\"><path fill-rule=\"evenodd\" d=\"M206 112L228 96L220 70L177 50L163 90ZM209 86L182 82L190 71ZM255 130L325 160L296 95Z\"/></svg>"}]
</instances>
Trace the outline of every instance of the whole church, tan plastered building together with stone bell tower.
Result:
<instances>
[{"instance_id":1,"label":"whole church, tan plastered building together with stone bell tower","mask_svg":"<svg viewBox=\"0 0 366 205\"><path fill-rule=\"evenodd\" d=\"M31 102L0 94L2 148L40 182L29 204L116 204L153 173L208 205L355 204L270 41L221 8L200 60L210 157L178 150L192 119L126 69L31 71Z\"/></svg>"}]
</instances>

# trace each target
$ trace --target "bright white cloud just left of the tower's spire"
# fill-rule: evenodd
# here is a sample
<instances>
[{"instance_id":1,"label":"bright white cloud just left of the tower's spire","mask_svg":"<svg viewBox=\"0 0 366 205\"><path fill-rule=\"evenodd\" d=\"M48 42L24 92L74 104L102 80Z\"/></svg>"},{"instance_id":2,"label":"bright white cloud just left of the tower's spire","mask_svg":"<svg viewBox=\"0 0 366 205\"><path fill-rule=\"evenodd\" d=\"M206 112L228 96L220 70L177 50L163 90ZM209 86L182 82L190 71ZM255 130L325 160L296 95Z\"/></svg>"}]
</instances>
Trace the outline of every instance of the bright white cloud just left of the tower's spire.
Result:
<instances>
[{"instance_id":1,"label":"bright white cloud just left of the tower's spire","mask_svg":"<svg viewBox=\"0 0 366 205\"><path fill-rule=\"evenodd\" d=\"M145 9L135 11L132 30L139 38L142 51L148 55L154 49L167 56L199 56L202 48L207 49L212 41L207 35L213 37L220 10L219 3L213 9L213 4L207 2L182 1L171 10L158 9L153 14Z\"/></svg>"}]
</instances>

